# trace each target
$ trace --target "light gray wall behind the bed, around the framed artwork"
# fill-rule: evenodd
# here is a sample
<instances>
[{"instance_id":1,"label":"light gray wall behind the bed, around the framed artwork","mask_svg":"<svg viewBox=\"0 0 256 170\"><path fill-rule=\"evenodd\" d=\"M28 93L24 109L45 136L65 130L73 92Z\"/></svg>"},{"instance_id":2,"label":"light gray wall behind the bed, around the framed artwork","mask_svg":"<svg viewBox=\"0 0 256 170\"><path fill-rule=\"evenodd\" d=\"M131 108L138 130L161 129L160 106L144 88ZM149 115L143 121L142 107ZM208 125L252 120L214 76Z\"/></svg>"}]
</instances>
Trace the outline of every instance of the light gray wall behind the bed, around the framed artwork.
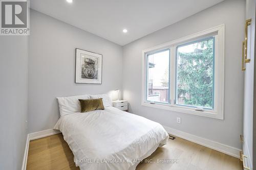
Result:
<instances>
[{"instance_id":1,"label":"light gray wall behind the bed, around the framed artwork","mask_svg":"<svg viewBox=\"0 0 256 170\"><path fill-rule=\"evenodd\" d=\"M29 132L51 129L59 118L56 97L122 88L122 47L31 10ZM103 29L103 28L102 28ZM75 48L103 55L102 84L75 84Z\"/></svg>"}]
</instances>

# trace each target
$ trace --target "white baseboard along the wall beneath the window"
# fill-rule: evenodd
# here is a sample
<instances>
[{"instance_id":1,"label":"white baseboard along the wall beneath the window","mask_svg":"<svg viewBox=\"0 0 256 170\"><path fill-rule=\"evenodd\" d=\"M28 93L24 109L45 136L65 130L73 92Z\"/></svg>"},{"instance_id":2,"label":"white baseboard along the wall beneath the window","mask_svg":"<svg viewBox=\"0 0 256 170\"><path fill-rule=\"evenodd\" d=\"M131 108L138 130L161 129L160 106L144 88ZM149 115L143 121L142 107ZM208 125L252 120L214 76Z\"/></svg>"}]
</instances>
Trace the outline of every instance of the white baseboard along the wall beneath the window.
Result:
<instances>
[{"instance_id":1,"label":"white baseboard along the wall beneath the window","mask_svg":"<svg viewBox=\"0 0 256 170\"><path fill-rule=\"evenodd\" d=\"M182 131L179 131L179 130L176 130L176 129L173 129L173 128L170 128L167 126L163 126L163 127L169 134L172 134L174 136L177 136L177 137L189 140L191 142L203 145L204 147L222 152L224 154L227 154L227 155L230 155L230 156L233 156L236 158L240 158L240 151L242 151L242 150L240 150L238 148L233 148L226 144L222 144L222 143L219 143L216 141L212 141L212 140L205 139L205 138L202 138L199 136L195 136L195 135L192 135L192 134L189 134L186 132L182 132Z\"/></svg>"}]
</instances>

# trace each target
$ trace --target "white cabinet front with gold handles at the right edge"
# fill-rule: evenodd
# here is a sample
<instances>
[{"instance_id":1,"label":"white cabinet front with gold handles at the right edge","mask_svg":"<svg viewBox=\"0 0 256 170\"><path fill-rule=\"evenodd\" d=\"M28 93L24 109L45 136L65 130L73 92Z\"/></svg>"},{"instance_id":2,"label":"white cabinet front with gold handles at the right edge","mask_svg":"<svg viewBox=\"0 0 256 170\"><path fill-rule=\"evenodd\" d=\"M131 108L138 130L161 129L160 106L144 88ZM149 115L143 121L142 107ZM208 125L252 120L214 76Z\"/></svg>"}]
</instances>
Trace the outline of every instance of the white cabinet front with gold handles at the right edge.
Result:
<instances>
[{"instance_id":1,"label":"white cabinet front with gold handles at the right edge","mask_svg":"<svg viewBox=\"0 0 256 170\"><path fill-rule=\"evenodd\" d=\"M243 120L243 153L247 156L246 166L252 169L253 157L253 111L255 112L255 107L253 107L253 94L254 92L254 45L255 45L255 0L246 0L246 19L251 18L251 25L248 27L248 58L251 59L249 63L245 64L246 70L244 71L244 120ZM254 96L253 96L254 95ZM255 99L255 98L254 98ZM255 122L254 120L254 122ZM256 126L254 124L254 126ZM254 131L255 133L255 131ZM255 140L255 139L254 139ZM255 142L255 141L254 141ZM255 158L254 158L255 159ZM255 161L255 160L254 160Z\"/></svg>"}]
</instances>

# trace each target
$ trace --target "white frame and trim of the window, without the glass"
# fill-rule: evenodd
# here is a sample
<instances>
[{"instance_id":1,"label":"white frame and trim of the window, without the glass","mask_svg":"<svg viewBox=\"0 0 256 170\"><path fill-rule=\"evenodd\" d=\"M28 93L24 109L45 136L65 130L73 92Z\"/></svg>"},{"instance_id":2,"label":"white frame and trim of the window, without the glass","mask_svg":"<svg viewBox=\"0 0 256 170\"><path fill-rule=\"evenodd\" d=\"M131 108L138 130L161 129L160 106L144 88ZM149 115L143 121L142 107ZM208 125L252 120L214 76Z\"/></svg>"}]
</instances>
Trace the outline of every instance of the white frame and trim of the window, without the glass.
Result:
<instances>
[{"instance_id":1,"label":"white frame and trim of the window, without the glass","mask_svg":"<svg viewBox=\"0 0 256 170\"><path fill-rule=\"evenodd\" d=\"M204 111L195 110L193 107L176 105L176 47L186 42L192 42L202 38L215 37L215 74L214 74L214 108L212 110L204 109ZM169 98L170 103L154 103L146 101L146 56L148 53L159 51L162 49L170 49L170 86ZM191 34L174 41L169 41L142 51L142 96L141 105L158 109L176 111L199 116L224 119L224 50L225 50L225 25L220 25L205 31Z\"/></svg>"}]
</instances>

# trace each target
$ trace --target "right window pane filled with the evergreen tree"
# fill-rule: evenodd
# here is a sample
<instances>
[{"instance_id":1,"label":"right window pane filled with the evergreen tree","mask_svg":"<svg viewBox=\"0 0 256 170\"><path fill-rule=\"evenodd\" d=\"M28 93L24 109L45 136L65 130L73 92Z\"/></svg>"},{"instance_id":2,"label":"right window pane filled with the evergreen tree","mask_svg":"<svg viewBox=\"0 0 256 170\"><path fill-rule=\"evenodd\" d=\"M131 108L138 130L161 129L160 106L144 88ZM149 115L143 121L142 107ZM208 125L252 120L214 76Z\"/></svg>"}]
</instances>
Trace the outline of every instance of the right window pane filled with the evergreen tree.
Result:
<instances>
[{"instance_id":1,"label":"right window pane filled with the evergreen tree","mask_svg":"<svg viewBox=\"0 0 256 170\"><path fill-rule=\"evenodd\" d=\"M214 38L177 47L176 103L213 108Z\"/></svg>"}]
</instances>

